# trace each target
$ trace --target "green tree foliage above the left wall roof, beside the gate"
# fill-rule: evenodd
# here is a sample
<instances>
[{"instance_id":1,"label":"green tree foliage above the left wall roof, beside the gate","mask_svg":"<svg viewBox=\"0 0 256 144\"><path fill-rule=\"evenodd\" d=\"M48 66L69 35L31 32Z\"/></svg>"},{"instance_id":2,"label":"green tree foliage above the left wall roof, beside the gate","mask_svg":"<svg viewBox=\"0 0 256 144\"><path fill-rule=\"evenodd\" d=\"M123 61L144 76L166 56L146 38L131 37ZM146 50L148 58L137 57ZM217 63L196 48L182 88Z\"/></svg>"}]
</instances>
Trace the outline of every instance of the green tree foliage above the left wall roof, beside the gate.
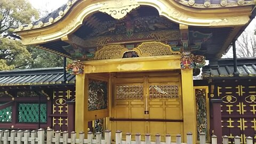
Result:
<instances>
[{"instance_id":1,"label":"green tree foliage above the left wall roof, beside the gate","mask_svg":"<svg viewBox=\"0 0 256 144\"><path fill-rule=\"evenodd\" d=\"M43 12L45 13L45 12ZM31 23L39 12L27 0L0 0L0 70L62 66L63 58L36 46L24 46L18 39L3 37L9 29Z\"/></svg>"}]
</instances>

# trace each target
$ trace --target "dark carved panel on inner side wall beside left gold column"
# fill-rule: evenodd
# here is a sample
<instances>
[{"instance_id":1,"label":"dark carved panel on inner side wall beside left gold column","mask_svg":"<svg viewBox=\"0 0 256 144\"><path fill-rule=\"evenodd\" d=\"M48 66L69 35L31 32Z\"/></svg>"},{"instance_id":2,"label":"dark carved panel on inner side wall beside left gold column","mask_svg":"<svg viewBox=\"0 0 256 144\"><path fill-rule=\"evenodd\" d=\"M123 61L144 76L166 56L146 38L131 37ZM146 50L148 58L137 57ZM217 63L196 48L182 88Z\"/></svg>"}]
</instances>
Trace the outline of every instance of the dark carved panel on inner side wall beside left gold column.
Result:
<instances>
[{"instance_id":1,"label":"dark carved panel on inner side wall beside left gold column","mask_svg":"<svg viewBox=\"0 0 256 144\"><path fill-rule=\"evenodd\" d=\"M108 108L108 83L89 79L88 110Z\"/></svg>"}]
</instances>

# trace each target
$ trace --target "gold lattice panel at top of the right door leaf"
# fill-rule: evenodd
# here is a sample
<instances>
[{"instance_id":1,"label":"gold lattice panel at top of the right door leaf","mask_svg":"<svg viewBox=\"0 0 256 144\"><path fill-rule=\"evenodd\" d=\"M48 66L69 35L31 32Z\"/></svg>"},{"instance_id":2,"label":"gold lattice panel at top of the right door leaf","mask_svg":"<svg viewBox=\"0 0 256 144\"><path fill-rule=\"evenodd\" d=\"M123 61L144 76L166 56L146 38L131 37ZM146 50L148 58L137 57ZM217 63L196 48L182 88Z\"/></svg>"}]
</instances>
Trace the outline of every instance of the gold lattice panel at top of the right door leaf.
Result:
<instances>
[{"instance_id":1,"label":"gold lattice panel at top of the right door leaf","mask_svg":"<svg viewBox=\"0 0 256 144\"><path fill-rule=\"evenodd\" d=\"M149 99L177 99L178 85L149 85Z\"/></svg>"}]
</instances>

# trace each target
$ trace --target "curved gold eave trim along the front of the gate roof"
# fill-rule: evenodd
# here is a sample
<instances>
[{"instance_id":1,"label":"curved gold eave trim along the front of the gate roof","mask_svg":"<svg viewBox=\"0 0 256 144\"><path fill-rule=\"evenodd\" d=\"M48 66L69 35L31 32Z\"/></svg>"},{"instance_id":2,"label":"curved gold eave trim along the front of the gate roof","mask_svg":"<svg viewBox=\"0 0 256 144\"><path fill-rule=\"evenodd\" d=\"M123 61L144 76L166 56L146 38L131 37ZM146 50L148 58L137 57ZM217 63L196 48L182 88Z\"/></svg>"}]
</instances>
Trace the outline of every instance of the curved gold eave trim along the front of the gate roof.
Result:
<instances>
[{"instance_id":1,"label":"curved gold eave trim along the front of the gate roof","mask_svg":"<svg viewBox=\"0 0 256 144\"><path fill-rule=\"evenodd\" d=\"M122 5L112 5L111 3L120 2ZM173 22L188 26L204 27L227 27L243 26L249 21L252 6L241 7L222 7L222 9L198 9L181 5L173 0L109 0L109 1L72 1L68 3L68 10L60 12L60 17L50 20L49 23L41 23L39 26L20 27L15 32L20 35L21 42L25 45L42 44L60 39L74 33L86 17L92 13L104 11L110 13L112 9L116 11L124 10L127 14L132 9L140 6L151 6L158 10L159 15L170 19ZM109 5L106 5L109 4ZM111 6L112 5L112 6ZM130 7L129 9L127 7ZM232 9L232 10L230 10ZM69 12L69 13L68 13ZM121 11L122 12L122 11ZM66 15L65 17L63 17ZM111 12L113 15L113 12ZM122 18L125 14L114 14L116 18ZM61 19L61 20L59 20ZM52 25L58 23L58 25ZM47 26L47 27L46 27Z\"/></svg>"}]
</instances>

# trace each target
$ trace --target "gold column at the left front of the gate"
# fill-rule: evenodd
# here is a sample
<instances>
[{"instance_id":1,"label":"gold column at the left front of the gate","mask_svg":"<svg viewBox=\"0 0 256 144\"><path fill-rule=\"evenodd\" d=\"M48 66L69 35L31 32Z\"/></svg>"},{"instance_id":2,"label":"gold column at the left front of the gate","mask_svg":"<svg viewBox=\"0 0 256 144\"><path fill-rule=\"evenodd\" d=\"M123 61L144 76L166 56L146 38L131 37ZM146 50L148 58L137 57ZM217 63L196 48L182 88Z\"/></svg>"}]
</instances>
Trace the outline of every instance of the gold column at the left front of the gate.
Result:
<instances>
[{"instance_id":1,"label":"gold column at the left front of the gate","mask_svg":"<svg viewBox=\"0 0 256 144\"><path fill-rule=\"evenodd\" d=\"M84 132L87 135L88 122L85 115L87 109L86 89L87 78L85 74L76 75L76 105L75 105L75 131Z\"/></svg>"}]
</instances>

